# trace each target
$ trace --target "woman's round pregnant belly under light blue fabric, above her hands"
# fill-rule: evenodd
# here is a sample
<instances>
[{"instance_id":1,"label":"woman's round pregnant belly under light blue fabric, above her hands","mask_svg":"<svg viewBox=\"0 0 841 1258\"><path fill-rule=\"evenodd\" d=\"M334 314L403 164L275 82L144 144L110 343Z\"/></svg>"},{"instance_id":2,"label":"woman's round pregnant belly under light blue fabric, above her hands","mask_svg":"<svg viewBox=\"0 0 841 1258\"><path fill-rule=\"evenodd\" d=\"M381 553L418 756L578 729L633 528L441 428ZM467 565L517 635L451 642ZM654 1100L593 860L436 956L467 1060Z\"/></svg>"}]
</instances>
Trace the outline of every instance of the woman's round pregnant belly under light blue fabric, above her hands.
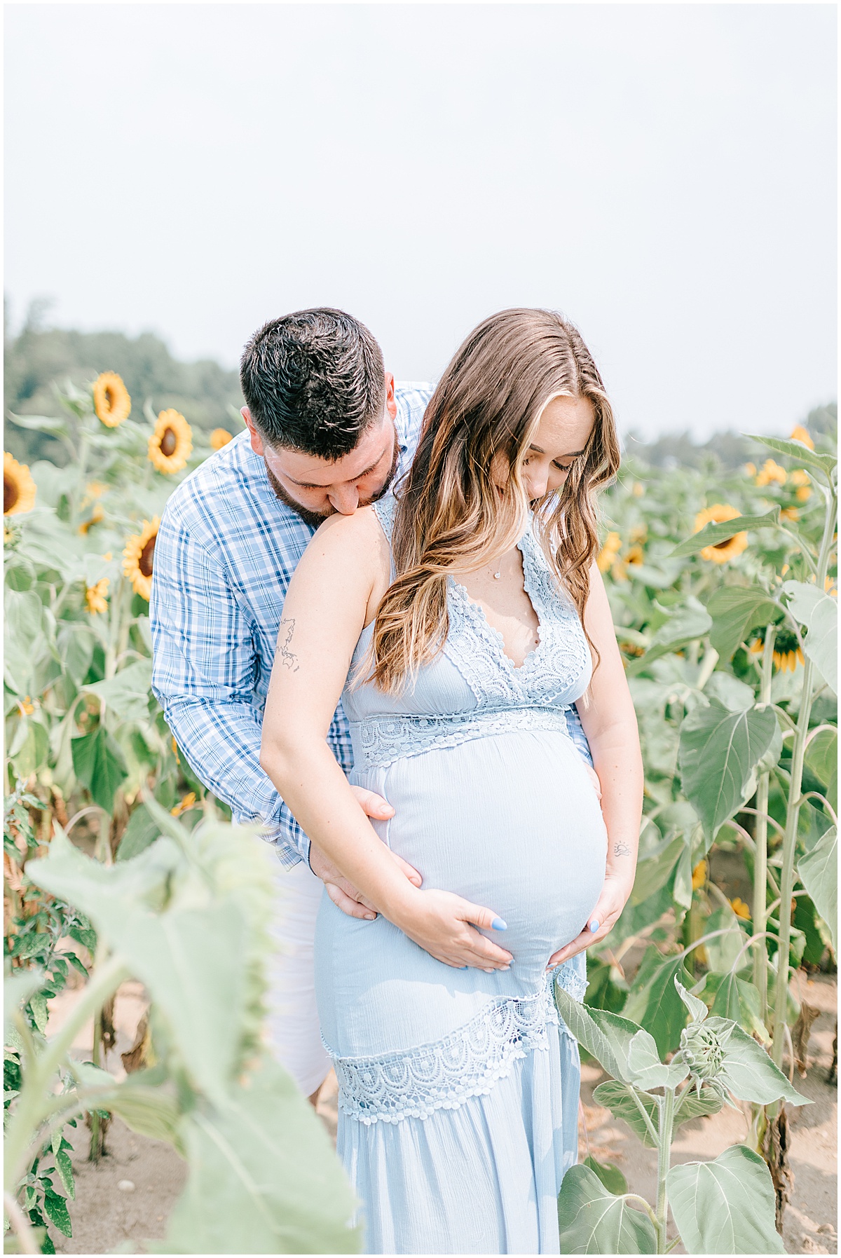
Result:
<instances>
[{"instance_id":1,"label":"woman's round pregnant belly under light blue fabric, above her hands","mask_svg":"<svg viewBox=\"0 0 841 1258\"><path fill-rule=\"evenodd\" d=\"M533 971L537 981L585 926L605 878L606 833L564 735L476 738L360 780L395 808L377 829L424 887L456 892L508 923L485 933L513 954L520 980Z\"/></svg>"}]
</instances>

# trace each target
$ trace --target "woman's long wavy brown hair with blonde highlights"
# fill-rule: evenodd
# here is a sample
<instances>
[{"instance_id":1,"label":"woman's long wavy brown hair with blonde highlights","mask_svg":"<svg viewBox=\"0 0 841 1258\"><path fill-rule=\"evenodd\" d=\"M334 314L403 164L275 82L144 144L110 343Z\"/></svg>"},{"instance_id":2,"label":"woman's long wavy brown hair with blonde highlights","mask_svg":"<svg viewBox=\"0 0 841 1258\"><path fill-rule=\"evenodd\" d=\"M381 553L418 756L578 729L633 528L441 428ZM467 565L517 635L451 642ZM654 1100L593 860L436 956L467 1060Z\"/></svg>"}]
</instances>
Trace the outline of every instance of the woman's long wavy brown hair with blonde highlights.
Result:
<instances>
[{"instance_id":1,"label":"woman's long wavy brown hair with blonde highlights","mask_svg":"<svg viewBox=\"0 0 841 1258\"><path fill-rule=\"evenodd\" d=\"M593 429L563 486L529 504L523 457L543 408L558 394L587 398ZM480 323L432 394L415 460L397 489L396 579L377 610L371 679L400 693L439 654L449 629L448 574L475 571L515 545L529 506L583 623L597 547L595 491L618 462L613 413L578 330L542 309L502 311ZM492 468L499 479L505 464L508 476L498 484Z\"/></svg>"}]
</instances>

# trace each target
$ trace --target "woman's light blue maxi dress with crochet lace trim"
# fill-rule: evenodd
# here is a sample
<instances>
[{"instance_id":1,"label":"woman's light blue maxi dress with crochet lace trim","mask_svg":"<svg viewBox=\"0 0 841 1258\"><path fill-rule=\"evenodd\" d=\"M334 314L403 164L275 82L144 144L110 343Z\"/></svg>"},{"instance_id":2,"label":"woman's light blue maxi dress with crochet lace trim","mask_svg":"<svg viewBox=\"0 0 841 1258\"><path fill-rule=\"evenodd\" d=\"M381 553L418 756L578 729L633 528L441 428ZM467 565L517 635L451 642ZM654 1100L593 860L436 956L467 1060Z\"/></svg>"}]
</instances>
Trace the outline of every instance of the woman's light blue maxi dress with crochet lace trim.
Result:
<instances>
[{"instance_id":1,"label":"woman's light blue maxi dress with crochet lace trim","mask_svg":"<svg viewBox=\"0 0 841 1258\"><path fill-rule=\"evenodd\" d=\"M377 503L388 537L392 512L393 499ZM508 930L486 933L514 956L508 972L455 970L385 917L358 921L322 898L318 1011L367 1253L558 1253L581 1072L546 966L596 905L606 832L567 727L591 676L587 642L530 527L518 545L539 618L522 668L450 580L444 653L414 688L342 696L351 780L395 808L375 823L383 843L424 887L493 908ZM583 955L554 976L582 999Z\"/></svg>"}]
</instances>

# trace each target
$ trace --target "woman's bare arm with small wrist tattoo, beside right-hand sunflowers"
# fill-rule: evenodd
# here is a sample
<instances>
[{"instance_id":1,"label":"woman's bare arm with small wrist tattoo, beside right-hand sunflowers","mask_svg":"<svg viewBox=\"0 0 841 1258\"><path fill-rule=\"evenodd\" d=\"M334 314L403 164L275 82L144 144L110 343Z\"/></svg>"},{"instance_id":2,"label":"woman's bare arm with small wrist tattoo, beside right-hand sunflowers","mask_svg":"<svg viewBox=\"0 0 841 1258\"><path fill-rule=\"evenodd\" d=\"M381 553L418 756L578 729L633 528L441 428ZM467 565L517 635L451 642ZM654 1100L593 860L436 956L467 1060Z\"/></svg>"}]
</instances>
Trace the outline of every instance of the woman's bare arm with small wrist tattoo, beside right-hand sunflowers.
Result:
<instances>
[{"instance_id":1,"label":"woman's bare arm with small wrist tattoo, beside right-hand sunflowers","mask_svg":"<svg viewBox=\"0 0 841 1258\"><path fill-rule=\"evenodd\" d=\"M582 922L577 938L562 947L549 965L559 965L590 944L602 940L625 907L636 873L642 815L642 756L631 692L616 644L613 618L605 582L593 564L590 599L585 613L587 633L600 654L590 688L590 702L578 702L578 715L602 789L602 814L607 828L607 869L598 903ZM591 931L592 922L598 927Z\"/></svg>"}]
</instances>

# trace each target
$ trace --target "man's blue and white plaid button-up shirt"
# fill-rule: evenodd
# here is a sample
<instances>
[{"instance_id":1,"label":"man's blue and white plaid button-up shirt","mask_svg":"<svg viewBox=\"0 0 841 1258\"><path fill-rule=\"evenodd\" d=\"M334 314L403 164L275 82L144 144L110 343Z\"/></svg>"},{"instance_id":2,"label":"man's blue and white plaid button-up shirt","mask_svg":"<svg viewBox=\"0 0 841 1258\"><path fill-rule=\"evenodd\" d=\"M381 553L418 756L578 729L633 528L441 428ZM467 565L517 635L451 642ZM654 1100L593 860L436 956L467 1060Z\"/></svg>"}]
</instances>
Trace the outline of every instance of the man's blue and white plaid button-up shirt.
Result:
<instances>
[{"instance_id":1,"label":"man's blue and white plaid button-up shirt","mask_svg":"<svg viewBox=\"0 0 841 1258\"><path fill-rule=\"evenodd\" d=\"M431 387L396 387L397 476L415 454ZM211 455L170 497L157 541L150 616L152 689L196 776L238 821L258 820L284 864L309 840L260 769L263 708L283 601L314 530L279 502L248 431ZM590 749L577 713L569 732ZM353 766L341 706L327 741Z\"/></svg>"}]
</instances>

